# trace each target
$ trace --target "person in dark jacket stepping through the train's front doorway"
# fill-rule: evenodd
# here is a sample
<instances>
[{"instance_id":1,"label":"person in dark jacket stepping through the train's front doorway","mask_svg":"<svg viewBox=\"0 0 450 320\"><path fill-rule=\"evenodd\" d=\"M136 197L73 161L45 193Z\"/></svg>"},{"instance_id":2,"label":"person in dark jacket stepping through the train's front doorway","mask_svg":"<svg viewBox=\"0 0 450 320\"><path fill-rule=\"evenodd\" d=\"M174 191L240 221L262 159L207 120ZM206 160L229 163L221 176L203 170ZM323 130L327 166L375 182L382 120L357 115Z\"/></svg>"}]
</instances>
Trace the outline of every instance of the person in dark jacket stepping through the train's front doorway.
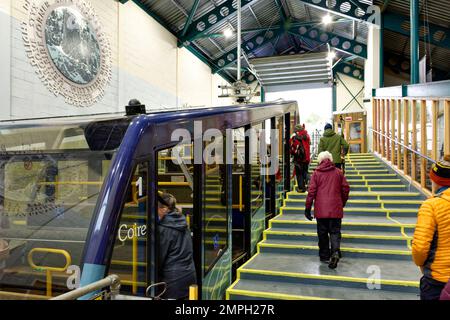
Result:
<instances>
[{"instance_id":1,"label":"person in dark jacket stepping through the train's front doorway","mask_svg":"<svg viewBox=\"0 0 450 320\"><path fill-rule=\"evenodd\" d=\"M197 283L191 232L169 193L158 193L159 275L167 284L163 299L186 299Z\"/></svg>"}]
</instances>

